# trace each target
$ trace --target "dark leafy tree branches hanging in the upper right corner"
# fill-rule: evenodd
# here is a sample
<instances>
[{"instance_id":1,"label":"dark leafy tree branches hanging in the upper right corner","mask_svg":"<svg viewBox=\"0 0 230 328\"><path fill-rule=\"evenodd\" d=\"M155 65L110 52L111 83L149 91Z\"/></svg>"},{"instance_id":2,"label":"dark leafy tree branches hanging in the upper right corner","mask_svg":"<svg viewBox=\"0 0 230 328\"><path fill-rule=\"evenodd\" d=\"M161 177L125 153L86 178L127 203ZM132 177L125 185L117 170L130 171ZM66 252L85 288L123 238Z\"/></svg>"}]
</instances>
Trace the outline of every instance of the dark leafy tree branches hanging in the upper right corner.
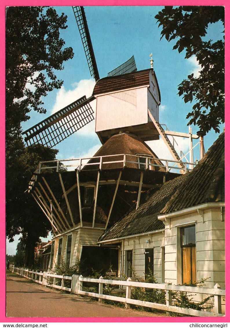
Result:
<instances>
[{"instance_id":1,"label":"dark leafy tree branches hanging in the upper right corner","mask_svg":"<svg viewBox=\"0 0 230 328\"><path fill-rule=\"evenodd\" d=\"M194 101L188 125L198 125L206 133L212 128L220 132L224 122L224 40L206 40L209 24L224 23L224 7L172 6L164 7L155 16L162 27L161 39L176 40L173 49L186 50L185 58L195 55L200 74L188 75L178 86L185 103ZM206 37L206 38L205 38Z\"/></svg>"}]
</instances>

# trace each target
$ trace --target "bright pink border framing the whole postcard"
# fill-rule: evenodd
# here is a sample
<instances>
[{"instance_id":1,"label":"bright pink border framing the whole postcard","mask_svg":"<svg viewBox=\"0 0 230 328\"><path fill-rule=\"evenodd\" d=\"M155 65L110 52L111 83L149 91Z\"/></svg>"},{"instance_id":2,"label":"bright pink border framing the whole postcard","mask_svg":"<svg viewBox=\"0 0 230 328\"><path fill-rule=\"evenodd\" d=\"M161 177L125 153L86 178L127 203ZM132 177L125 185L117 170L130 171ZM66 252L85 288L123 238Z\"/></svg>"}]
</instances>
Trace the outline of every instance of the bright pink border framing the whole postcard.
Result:
<instances>
[{"instance_id":1,"label":"bright pink border framing the whole postcard","mask_svg":"<svg viewBox=\"0 0 230 328\"><path fill-rule=\"evenodd\" d=\"M48 3L47 3L48 2ZM225 6L225 13L226 13L226 82L228 82L229 77L229 69L230 65L228 65L228 59L229 59L229 22L230 22L230 4L228 0L183 0L178 1L179 5L208 5L208 6ZM165 5L178 5L177 1L150 1L150 0L84 0L77 3L77 5L85 5L85 6L165 6ZM5 1L2 0L0 5L0 31L1 38L0 38L0 45L1 49L5 49L5 7L6 6L72 6L73 1L69 0L62 0L62 1L44 1L44 0L11 0L11 1ZM2 104L2 108L0 111L0 140L1 140L1 146L0 146L0 155L1 155L1 163L3 166L3 163L5 162L5 51L1 52L1 93L0 93L0 103ZM229 105L229 85L226 83L226 108L228 108ZM229 144L229 134L228 134L228 126L229 126L229 119L230 115L228 114L228 111L226 111L226 145ZM226 149L227 150L227 149ZM230 159L229 152L226 151L226 162L228 162L228 159ZM0 250L2 251L2 263L0 266L0 272L2 276L2 283L0 285L0 293L1 295L5 295L5 172L1 170L1 188L0 188L0 200L1 200L1 222L2 222L2 229L1 229L1 238L0 238ZM229 175L226 174L226 186L229 185L230 178ZM226 199L227 203L230 198L230 192L229 188L226 188ZM226 208L226 217L229 215L228 207ZM226 240L228 241L230 239L230 228L229 224L226 226ZM227 250L229 250L229 245L226 245ZM229 252L230 253L230 252ZM226 251L226 281L229 281L229 258L230 255ZM0 322L230 322L230 315L229 315L229 283L226 285L226 316L224 318L6 318L5 315L5 297L2 297L0 299Z\"/></svg>"}]
</instances>

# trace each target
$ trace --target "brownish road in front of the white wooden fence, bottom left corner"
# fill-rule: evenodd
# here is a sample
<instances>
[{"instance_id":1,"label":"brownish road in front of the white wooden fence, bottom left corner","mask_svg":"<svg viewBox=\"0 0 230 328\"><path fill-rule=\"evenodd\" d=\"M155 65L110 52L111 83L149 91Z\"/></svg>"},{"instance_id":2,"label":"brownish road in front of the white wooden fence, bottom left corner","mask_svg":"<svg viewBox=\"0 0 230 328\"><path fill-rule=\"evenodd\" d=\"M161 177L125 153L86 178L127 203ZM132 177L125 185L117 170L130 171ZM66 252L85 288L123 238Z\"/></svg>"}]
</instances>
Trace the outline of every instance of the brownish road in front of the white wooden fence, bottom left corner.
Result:
<instances>
[{"instance_id":1,"label":"brownish road in front of the white wooden fence, bottom left corner","mask_svg":"<svg viewBox=\"0 0 230 328\"><path fill-rule=\"evenodd\" d=\"M63 294L17 275L6 280L7 317L166 317Z\"/></svg>"}]
</instances>

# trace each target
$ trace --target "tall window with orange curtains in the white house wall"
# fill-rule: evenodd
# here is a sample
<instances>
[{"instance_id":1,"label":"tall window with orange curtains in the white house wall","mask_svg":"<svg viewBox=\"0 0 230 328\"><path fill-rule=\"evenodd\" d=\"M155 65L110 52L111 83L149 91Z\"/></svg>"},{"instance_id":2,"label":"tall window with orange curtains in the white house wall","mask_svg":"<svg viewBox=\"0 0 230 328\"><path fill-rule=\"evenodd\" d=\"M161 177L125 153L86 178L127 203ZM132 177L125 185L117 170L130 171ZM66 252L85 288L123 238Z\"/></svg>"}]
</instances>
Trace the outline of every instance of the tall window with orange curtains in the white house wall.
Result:
<instances>
[{"instance_id":1,"label":"tall window with orange curtains in the white house wall","mask_svg":"<svg viewBox=\"0 0 230 328\"><path fill-rule=\"evenodd\" d=\"M180 229L182 283L194 284L197 281L196 227Z\"/></svg>"}]
</instances>

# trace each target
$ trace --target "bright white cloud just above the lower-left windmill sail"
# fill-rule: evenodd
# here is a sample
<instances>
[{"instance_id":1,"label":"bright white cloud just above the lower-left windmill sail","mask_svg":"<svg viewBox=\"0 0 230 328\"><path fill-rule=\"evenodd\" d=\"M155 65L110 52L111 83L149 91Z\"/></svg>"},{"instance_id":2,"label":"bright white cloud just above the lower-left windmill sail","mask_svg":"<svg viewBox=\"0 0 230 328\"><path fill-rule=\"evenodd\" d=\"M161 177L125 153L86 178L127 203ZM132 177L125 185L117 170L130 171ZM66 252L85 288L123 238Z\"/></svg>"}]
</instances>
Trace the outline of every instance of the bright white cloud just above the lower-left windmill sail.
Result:
<instances>
[{"instance_id":1,"label":"bright white cloud just above the lower-left windmill sail","mask_svg":"<svg viewBox=\"0 0 230 328\"><path fill-rule=\"evenodd\" d=\"M84 95L86 98L90 97L94 90L94 85L94 80L81 80L79 83L73 84L73 90L66 90L65 87L62 86L57 92L56 101L52 108L52 114L68 106L73 101L83 97Z\"/></svg>"}]
</instances>

